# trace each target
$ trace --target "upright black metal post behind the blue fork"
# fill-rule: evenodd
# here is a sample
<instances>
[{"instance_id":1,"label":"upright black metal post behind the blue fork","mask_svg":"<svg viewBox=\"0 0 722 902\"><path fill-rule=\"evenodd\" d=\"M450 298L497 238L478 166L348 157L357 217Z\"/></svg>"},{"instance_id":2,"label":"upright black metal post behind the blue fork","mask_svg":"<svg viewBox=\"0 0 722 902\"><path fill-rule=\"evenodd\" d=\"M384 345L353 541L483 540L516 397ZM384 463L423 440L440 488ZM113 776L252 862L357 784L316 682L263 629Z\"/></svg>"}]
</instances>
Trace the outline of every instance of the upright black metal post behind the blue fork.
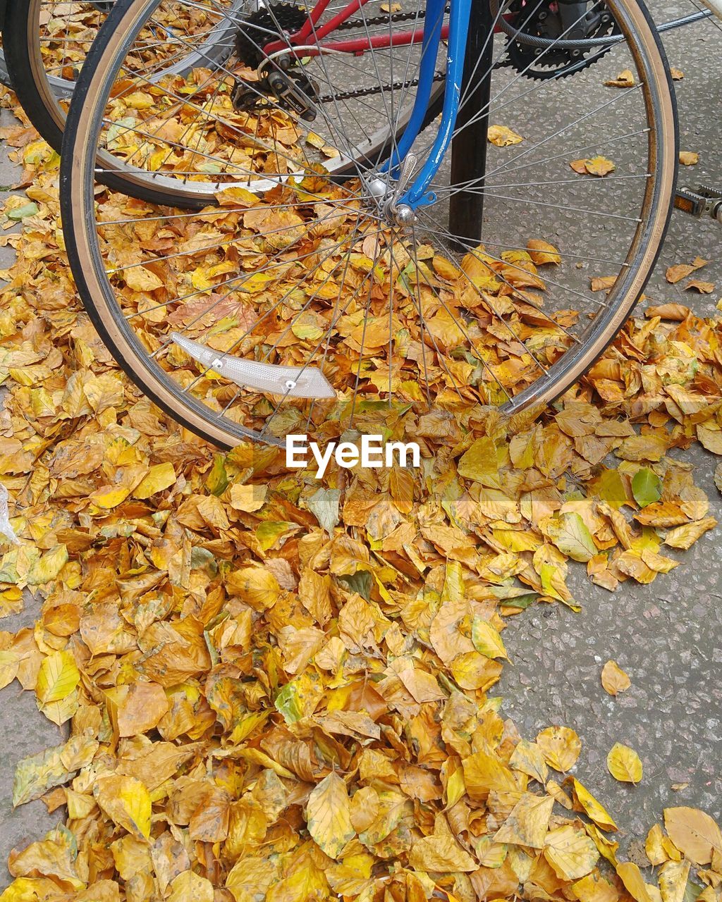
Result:
<instances>
[{"instance_id":1,"label":"upright black metal post behind the blue fork","mask_svg":"<svg viewBox=\"0 0 722 902\"><path fill-rule=\"evenodd\" d=\"M488 0L471 0L467 56L461 84L461 109L457 136L451 143L451 185L474 180L473 190L460 190L449 201L449 232L457 235L458 251L463 244L478 244L484 218L484 176L486 174L486 131L489 124L494 38ZM488 39L488 40L487 40ZM486 42L486 47L484 46ZM482 113L484 110L484 113ZM472 124L468 124L474 120Z\"/></svg>"}]
</instances>

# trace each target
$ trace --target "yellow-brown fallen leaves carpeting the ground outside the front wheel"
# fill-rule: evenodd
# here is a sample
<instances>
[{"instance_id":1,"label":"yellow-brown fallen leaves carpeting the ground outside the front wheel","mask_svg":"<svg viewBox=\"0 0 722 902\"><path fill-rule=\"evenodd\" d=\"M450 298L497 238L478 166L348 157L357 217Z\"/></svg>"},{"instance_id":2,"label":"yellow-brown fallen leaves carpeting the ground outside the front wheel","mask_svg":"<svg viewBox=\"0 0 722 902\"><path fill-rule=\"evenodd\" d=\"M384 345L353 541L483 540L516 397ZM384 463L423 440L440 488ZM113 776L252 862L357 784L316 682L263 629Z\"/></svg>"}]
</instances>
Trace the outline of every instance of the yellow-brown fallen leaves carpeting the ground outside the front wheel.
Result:
<instances>
[{"instance_id":1,"label":"yellow-brown fallen leaves carpeting the ground outside the front wheel","mask_svg":"<svg viewBox=\"0 0 722 902\"><path fill-rule=\"evenodd\" d=\"M569 559L646 583L716 525L675 452L722 454L719 320L647 308L536 419L367 410L357 427L418 441L421 468L319 481L275 447L218 454L135 391L75 296L57 158L23 161L0 610L26 587L42 610L0 633L0 685L69 731L21 763L14 804L67 818L14 851L2 902L682 902L691 864L714 902L708 815L667 809L646 883L564 776L576 733L524 740L490 690L509 616L579 607Z\"/></svg>"}]
</instances>

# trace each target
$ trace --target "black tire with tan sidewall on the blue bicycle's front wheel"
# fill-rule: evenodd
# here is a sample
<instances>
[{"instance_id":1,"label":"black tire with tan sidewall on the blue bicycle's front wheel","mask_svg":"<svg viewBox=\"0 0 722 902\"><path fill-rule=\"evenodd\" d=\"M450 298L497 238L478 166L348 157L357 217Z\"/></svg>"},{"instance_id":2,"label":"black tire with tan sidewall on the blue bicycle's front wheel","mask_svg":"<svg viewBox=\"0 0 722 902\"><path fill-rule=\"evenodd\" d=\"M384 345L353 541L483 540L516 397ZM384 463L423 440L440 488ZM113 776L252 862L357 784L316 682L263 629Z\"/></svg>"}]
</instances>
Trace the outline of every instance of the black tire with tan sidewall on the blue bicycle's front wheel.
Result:
<instances>
[{"instance_id":1,"label":"black tire with tan sidewall on the blue bicycle's front wheel","mask_svg":"<svg viewBox=\"0 0 722 902\"><path fill-rule=\"evenodd\" d=\"M577 382L597 361L606 346L614 340L634 308L636 300L642 294L669 224L679 147L676 106L669 66L666 64L653 20L643 3L624 0L623 4L617 4L617 7L620 9L623 7L625 13L622 22L625 33L634 34L635 48L643 49L644 58L639 60L639 63L647 79L646 90L651 97L651 100L648 98L647 104L649 107L651 103L652 108L648 108L648 115L653 122L649 142L652 159L649 165L653 169L654 182L644 194L647 218L643 228L635 235L633 247L630 248L630 259L633 259L634 264L625 264L628 271L623 279L620 277L619 297L605 316L597 318L592 340L586 341L579 353L565 355L568 359L563 362L563 366L553 370L548 379L537 380L528 391L523 391L504 405L509 412L551 402ZM126 11L129 8L129 5L125 6ZM115 298L108 289L109 283L105 284L99 276L99 273L105 270L97 247L94 247L97 242L94 242L93 236L90 235L94 226L85 212L88 209L89 199L92 198L92 164L88 162L88 143L93 142L92 140L88 142L88 134L93 133L92 123L94 120L97 122L102 115L101 106L105 104L105 99L101 96L102 90L98 85L108 71L108 47L115 38L117 52L117 47L123 40L122 29L117 27L119 22L120 15L116 16L114 32L108 35L108 41L103 45L98 43L88 56L88 64L81 76L85 88L82 95L84 102L73 105L71 111L72 128L69 128L66 135L61 176L62 215L69 260L88 315L130 378L162 410L191 431L218 446L234 446L244 438L257 438L257 433L237 423L220 424L209 419L208 411L204 410L202 404L184 395L177 386L174 388L169 385L168 380L159 374L159 371L162 373L160 367L154 368L148 363L147 358L139 353L137 341L128 334L130 330L123 317L119 316ZM111 47L110 53L112 52L114 51ZM273 437L267 437L267 440L280 444L280 441Z\"/></svg>"}]
</instances>

